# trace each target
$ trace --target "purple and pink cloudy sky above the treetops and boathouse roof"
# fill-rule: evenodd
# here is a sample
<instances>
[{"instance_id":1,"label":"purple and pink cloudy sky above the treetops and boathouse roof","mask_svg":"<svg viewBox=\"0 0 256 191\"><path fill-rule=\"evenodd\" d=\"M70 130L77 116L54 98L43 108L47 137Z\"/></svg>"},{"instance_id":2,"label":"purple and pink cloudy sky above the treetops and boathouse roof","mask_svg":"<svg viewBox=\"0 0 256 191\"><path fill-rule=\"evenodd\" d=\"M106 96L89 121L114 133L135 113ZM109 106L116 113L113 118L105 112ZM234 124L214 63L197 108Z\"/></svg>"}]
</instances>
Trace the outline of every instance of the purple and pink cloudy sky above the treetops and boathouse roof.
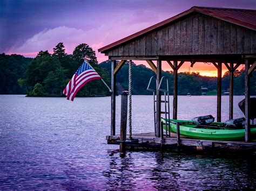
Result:
<instances>
[{"instance_id":1,"label":"purple and pink cloudy sky above the treetops and boathouse roof","mask_svg":"<svg viewBox=\"0 0 256 191\"><path fill-rule=\"evenodd\" d=\"M97 49L190 9L192 6L256 9L255 0L2 0L0 53L33 57L63 42L68 53Z\"/></svg>"}]
</instances>

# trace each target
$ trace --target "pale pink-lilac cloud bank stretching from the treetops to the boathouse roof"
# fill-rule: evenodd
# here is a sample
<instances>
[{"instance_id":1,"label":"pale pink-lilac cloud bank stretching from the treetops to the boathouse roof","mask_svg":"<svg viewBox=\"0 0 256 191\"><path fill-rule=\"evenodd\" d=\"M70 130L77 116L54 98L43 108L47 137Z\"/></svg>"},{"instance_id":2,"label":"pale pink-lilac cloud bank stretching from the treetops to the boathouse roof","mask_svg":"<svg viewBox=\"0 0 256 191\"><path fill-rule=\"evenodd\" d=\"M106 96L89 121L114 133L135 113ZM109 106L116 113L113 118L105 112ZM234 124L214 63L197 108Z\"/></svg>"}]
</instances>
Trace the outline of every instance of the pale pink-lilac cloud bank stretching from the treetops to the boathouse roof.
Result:
<instances>
[{"instance_id":1,"label":"pale pink-lilac cloud bank stretching from the treetops to the boathouse roof","mask_svg":"<svg viewBox=\"0 0 256 191\"><path fill-rule=\"evenodd\" d=\"M48 50L52 53L52 48L58 43L64 43L66 53L71 54L73 49L81 43L89 44L96 52L99 62L107 60L107 56L98 53L98 48L113 43L119 39L138 32L145 27L150 26L148 22L129 23L129 19L111 20L107 24L102 24L97 28L90 30L77 29L75 27L58 26L53 29L44 29L34 34L22 45L12 46L6 54L22 54L24 56L34 57L39 51ZM116 27L118 26L118 27Z\"/></svg>"}]
</instances>

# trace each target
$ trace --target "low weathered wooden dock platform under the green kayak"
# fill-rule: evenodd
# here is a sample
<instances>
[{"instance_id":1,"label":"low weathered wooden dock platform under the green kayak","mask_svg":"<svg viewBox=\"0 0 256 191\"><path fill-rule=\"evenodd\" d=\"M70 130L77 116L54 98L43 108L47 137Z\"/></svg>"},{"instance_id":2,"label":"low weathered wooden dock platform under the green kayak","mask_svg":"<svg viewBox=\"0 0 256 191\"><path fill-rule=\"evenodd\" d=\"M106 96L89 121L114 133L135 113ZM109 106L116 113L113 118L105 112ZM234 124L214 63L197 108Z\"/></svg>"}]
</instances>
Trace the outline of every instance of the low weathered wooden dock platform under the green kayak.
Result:
<instances>
[{"instance_id":1,"label":"low weathered wooden dock platform under the green kayak","mask_svg":"<svg viewBox=\"0 0 256 191\"><path fill-rule=\"evenodd\" d=\"M119 135L106 136L107 144L119 145ZM128 137L127 137L128 139ZM199 140L180 137L180 145L177 144L177 136L171 133L171 137L165 137L163 140L154 135L154 133L138 133L132 135L132 141L126 139L127 150L176 150L176 151L199 151L213 153L251 153L256 154L256 142L246 143L243 141L225 141L225 140Z\"/></svg>"}]
</instances>

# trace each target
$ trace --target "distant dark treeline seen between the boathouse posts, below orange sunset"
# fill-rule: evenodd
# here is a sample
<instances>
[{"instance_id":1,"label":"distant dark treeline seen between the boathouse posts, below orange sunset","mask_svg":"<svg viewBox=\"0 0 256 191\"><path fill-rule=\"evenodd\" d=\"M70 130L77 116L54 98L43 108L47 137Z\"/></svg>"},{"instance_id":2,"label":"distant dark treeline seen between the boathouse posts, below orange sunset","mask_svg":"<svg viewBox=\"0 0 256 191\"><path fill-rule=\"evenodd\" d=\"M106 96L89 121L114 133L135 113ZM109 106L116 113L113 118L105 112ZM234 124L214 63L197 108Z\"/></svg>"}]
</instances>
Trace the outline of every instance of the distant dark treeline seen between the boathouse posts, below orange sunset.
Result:
<instances>
[{"instance_id":1,"label":"distant dark treeline seen between the boathouse posts, below orange sunset","mask_svg":"<svg viewBox=\"0 0 256 191\"><path fill-rule=\"evenodd\" d=\"M100 67L111 72L111 61L107 60L99 64ZM226 72L222 79L222 90L228 91L230 87L229 72ZM132 88L135 95L151 95L147 91L147 85L151 76L156 75L151 69L146 68L144 65L132 64ZM170 94L173 92L173 73L163 72L163 76L169 81ZM129 84L129 65L128 62L120 69L117 74L117 87L120 91L127 90ZM244 95L245 90L245 71L236 70L234 72L234 95ZM178 95L201 95L201 87L207 87L208 90L217 90L217 77L201 76L195 72L183 72L178 74ZM156 87L152 87L156 88ZM166 80L164 80L163 87L166 88ZM256 95L256 72L251 76L251 95Z\"/></svg>"}]
</instances>

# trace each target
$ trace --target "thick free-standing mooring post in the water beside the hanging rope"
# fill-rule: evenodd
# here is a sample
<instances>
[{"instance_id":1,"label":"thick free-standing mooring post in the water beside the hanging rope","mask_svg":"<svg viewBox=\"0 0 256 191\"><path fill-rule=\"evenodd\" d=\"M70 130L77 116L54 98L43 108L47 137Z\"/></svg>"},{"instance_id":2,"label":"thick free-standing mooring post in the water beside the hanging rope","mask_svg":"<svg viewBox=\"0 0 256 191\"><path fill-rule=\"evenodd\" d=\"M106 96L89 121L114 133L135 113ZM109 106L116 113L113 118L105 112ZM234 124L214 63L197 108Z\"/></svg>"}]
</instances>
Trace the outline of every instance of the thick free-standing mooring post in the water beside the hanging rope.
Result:
<instances>
[{"instance_id":1,"label":"thick free-standing mooring post in the water beside the hanging rope","mask_svg":"<svg viewBox=\"0 0 256 191\"><path fill-rule=\"evenodd\" d=\"M127 126L127 95L128 91L121 93L121 123L120 123L120 144L119 152L125 152L126 126Z\"/></svg>"}]
</instances>

